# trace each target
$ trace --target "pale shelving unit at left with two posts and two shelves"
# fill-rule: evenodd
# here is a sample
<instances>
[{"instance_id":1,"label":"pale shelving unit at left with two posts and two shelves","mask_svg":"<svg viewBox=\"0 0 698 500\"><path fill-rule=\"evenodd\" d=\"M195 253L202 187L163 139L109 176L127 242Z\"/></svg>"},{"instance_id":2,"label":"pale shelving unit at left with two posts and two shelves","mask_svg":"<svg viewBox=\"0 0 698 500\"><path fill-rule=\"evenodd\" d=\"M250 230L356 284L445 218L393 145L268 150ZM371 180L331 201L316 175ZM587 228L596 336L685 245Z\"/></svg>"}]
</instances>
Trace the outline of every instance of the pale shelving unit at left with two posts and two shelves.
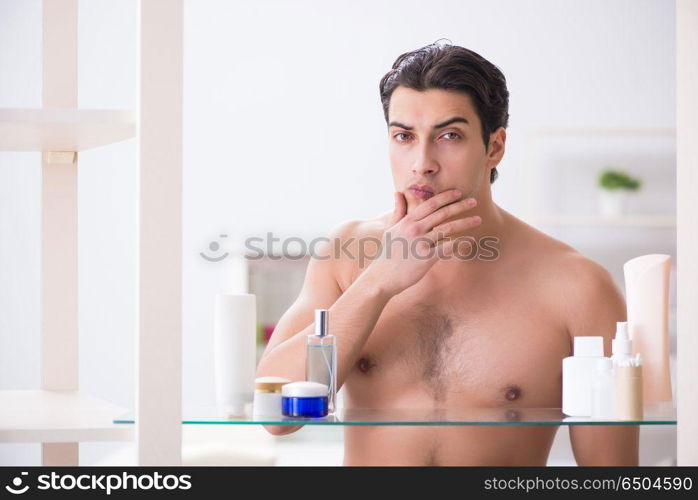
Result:
<instances>
[{"instance_id":1,"label":"pale shelving unit at left with two posts and two shelves","mask_svg":"<svg viewBox=\"0 0 698 500\"><path fill-rule=\"evenodd\" d=\"M137 114L77 109L78 0L42 7L42 108L0 110L0 150L42 153L41 390L0 391L0 439L41 442L45 466L122 439L138 465L181 465L183 0L138 2ZM127 409L78 387L77 168L79 151L136 135L138 422L124 429L113 420Z\"/></svg>"}]
</instances>

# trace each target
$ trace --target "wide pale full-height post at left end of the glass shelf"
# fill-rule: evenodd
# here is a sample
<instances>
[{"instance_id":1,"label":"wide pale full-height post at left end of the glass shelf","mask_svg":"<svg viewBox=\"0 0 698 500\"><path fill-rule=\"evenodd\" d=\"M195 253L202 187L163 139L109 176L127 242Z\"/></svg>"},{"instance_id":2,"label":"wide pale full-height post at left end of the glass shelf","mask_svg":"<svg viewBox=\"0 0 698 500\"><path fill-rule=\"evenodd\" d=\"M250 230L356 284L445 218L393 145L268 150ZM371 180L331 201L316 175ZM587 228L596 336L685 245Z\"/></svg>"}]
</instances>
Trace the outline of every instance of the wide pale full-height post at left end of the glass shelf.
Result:
<instances>
[{"instance_id":1,"label":"wide pale full-height post at left end of the glass shelf","mask_svg":"<svg viewBox=\"0 0 698 500\"><path fill-rule=\"evenodd\" d=\"M141 0L137 463L182 456L182 0Z\"/></svg>"}]
</instances>

